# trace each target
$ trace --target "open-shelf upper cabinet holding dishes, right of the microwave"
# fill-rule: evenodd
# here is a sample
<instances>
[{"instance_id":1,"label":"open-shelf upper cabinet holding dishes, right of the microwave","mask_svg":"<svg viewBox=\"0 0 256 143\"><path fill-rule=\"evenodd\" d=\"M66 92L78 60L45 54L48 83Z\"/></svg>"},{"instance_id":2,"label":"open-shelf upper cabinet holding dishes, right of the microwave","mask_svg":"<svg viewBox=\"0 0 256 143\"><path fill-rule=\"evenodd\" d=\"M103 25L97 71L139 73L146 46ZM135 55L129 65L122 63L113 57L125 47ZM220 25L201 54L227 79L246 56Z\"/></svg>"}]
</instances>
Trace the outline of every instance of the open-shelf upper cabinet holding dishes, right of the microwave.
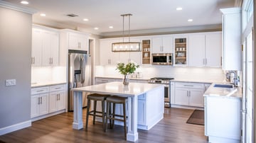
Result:
<instances>
[{"instance_id":1,"label":"open-shelf upper cabinet holding dishes, right of the microwave","mask_svg":"<svg viewBox=\"0 0 256 143\"><path fill-rule=\"evenodd\" d=\"M186 66L187 63L187 36L176 35L174 37L174 65Z\"/></svg>"}]
</instances>

